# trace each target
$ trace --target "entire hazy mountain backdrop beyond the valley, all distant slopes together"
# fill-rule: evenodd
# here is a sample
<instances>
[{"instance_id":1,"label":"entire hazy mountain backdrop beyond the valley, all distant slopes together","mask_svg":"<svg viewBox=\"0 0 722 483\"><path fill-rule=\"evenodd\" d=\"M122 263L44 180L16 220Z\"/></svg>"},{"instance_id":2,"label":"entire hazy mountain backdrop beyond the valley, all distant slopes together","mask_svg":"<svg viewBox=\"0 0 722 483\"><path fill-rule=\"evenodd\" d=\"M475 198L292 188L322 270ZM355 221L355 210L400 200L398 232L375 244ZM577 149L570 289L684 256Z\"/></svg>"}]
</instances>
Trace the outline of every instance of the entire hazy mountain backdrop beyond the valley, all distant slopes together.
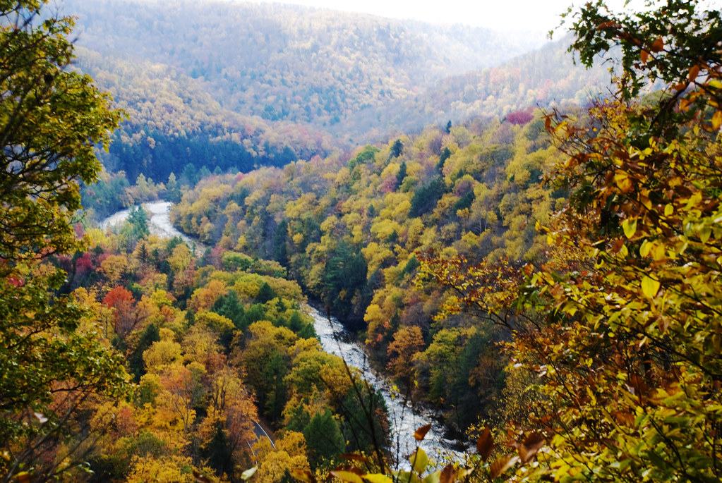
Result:
<instances>
[{"instance_id":1,"label":"entire hazy mountain backdrop beyond the valley, all distant slopes together","mask_svg":"<svg viewBox=\"0 0 722 483\"><path fill-rule=\"evenodd\" d=\"M129 121L105 164L247 171L425 125L584 102L608 81L564 40L229 1L67 0L77 67ZM539 50L537 50L539 49Z\"/></svg>"}]
</instances>

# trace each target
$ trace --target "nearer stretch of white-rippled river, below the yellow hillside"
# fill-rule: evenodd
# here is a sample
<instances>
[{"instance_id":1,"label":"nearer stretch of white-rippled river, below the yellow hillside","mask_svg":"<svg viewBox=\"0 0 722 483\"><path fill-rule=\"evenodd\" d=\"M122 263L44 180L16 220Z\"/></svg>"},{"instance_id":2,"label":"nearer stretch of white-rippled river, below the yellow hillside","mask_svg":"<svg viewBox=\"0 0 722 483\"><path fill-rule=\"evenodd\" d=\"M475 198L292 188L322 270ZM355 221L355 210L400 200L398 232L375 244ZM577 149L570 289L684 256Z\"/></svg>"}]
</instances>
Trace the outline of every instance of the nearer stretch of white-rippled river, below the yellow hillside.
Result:
<instances>
[{"instance_id":1,"label":"nearer stretch of white-rippled river, below the yellow hillside","mask_svg":"<svg viewBox=\"0 0 722 483\"><path fill-rule=\"evenodd\" d=\"M341 322L333 317L329 319L313 307L310 307L310 316L313 317L313 325L323 350L338 355L349 366L359 369L363 378L383 395L391 423L391 451L398 453L399 463L403 465L404 458L413 453L417 445L423 448L430 458L437 458L439 463L444 456L451 456L456 461L462 460L461 453L453 450L457 442L443 438L443 427L434 420L433 415L412 406L390 381L373 371L365 350L360 343L349 337ZM431 429L419 443L414 439L414 431L429 422L432 423Z\"/></svg>"}]
</instances>

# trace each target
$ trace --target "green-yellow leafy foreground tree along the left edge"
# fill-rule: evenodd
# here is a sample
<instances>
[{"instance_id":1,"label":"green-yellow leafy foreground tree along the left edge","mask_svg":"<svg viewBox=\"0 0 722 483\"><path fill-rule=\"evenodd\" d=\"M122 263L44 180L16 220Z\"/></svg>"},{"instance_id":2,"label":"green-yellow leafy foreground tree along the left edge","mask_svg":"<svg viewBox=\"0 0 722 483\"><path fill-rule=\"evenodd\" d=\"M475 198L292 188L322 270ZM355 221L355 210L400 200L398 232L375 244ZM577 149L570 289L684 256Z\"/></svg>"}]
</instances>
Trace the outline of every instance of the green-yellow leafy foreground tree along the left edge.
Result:
<instances>
[{"instance_id":1,"label":"green-yellow leafy foreground tree along the left edge","mask_svg":"<svg viewBox=\"0 0 722 483\"><path fill-rule=\"evenodd\" d=\"M77 411L122 394L126 374L97 337L87 307L44 263L82 244L71 225L78 182L97 179L121 112L67 67L73 22L41 17L45 1L0 1L0 475L50 478L84 448ZM58 451L58 448L61 450Z\"/></svg>"}]
</instances>

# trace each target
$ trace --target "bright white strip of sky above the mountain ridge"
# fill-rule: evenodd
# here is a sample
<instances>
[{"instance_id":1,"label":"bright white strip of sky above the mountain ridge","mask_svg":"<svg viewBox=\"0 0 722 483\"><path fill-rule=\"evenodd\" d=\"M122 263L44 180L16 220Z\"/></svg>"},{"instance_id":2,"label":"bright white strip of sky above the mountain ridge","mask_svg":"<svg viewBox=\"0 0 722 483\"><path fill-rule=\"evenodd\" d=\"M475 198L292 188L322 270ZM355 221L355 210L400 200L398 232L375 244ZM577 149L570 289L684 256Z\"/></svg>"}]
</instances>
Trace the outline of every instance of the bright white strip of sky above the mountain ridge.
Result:
<instances>
[{"instance_id":1,"label":"bright white strip of sky above the mountain ridge","mask_svg":"<svg viewBox=\"0 0 722 483\"><path fill-rule=\"evenodd\" d=\"M274 1L274 0L253 0ZM275 0L381 17L432 23L464 23L496 30L547 32L559 24L559 14L574 0ZM580 3L584 0L576 0Z\"/></svg>"}]
</instances>

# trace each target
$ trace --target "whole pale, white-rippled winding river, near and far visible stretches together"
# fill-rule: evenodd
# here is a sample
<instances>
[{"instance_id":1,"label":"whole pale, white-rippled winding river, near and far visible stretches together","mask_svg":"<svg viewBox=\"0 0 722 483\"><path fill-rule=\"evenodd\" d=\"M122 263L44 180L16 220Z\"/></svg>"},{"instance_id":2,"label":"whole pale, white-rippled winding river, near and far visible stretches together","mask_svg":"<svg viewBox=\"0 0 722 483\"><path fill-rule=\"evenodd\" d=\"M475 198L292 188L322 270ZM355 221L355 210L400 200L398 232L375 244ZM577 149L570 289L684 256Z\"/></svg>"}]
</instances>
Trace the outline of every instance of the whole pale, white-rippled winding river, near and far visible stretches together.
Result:
<instances>
[{"instance_id":1,"label":"whole pale, white-rippled winding river, near and far visible stretches together","mask_svg":"<svg viewBox=\"0 0 722 483\"><path fill-rule=\"evenodd\" d=\"M168 238L179 236L189 247L196 247L196 254L204 252L206 249L204 244L188 238L170 223L168 213L171 204L166 201L143 204L144 210L149 213L148 228L151 234ZM100 228L117 226L118 223L125 221L129 214L129 210L118 211L105 218L100 223ZM404 461L407 456L414 453L417 446L423 448L430 458L435 458L437 464L445 461L444 456L450 456L456 461L463 459L461 453L452 449L456 442L443 438L443 427L433 419L430 412L422 412L417 407L412 407L394 388L393 384L370 368L365 350L358 342L349 337L341 322L333 317L329 319L323 316L313 307L309 307L309 314L313 317L313 325L323 350L338 355L349 366L359 369L362 377L383 395L391 425L391 453L398 455L401 466L408 465ZM424 440L421 442L415 440L414 432L429 422L432 423L432 427Z\"/></svg>"}]
</instances>

